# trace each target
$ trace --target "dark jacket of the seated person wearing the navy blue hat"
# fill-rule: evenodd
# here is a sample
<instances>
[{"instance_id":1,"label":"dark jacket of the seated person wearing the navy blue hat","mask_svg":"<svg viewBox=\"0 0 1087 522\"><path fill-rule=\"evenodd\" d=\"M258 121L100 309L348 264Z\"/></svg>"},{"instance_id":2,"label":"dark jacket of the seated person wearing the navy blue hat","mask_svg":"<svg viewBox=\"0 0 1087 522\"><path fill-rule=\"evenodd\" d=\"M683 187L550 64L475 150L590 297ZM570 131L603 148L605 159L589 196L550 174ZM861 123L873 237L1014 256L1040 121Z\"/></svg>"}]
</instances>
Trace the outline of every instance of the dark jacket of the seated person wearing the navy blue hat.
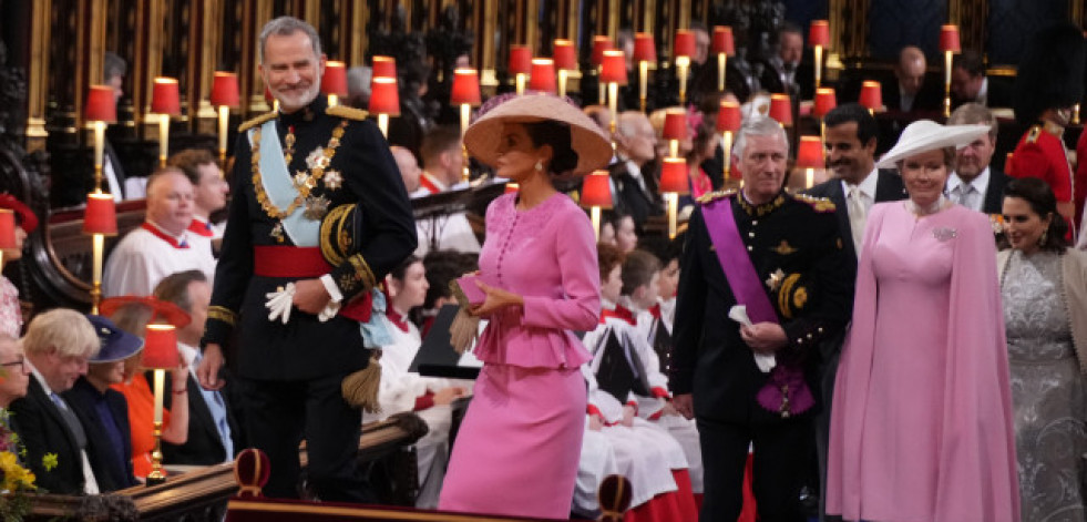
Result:
<instances>
[{"instance_id":1,"label":"dark jacket of the seated person wearing the navy blue hat","mask_svg":"<svg viewBox=\"0 0 1087 522\"><path fill-rule=\"evenodd\" d=\"M72 411L79 417L86 432L86 457L91 461L91 469L94 470L94 478L99 481L99 489L102 492L116 491L139 484L136 477L132 473L132 428L129 424L129 402L120 391L106 389L105 402L113 414L113 422L121 433L121 448L113 448L106 434L103 419L99 416L94 403L103 393L100 393L85 377L80 377L72 389L61 393ZM115 452L120 452L124 468L116 465Z\"/></svg>"}]
</instances>

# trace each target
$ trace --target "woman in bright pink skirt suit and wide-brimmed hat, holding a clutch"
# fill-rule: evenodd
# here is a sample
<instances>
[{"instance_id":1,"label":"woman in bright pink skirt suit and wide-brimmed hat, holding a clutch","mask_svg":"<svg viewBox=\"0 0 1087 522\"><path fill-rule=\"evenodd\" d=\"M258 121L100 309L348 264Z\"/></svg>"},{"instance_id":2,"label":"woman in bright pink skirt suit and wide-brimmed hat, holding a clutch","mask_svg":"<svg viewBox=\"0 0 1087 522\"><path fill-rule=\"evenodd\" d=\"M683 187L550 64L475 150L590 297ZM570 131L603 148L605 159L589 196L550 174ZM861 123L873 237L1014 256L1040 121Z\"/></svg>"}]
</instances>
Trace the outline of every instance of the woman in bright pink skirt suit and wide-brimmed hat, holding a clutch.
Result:
<instances>
[{"instance_id":1,"label":"woman in bright pink skirt suit and wide-brimmed hat, holding a clutch","mask_svg":"<svg viewBox=\"0 0 1087 522\"><path fill-rule=\"evenodd\" d=\"M592 358L573 330L596 327L601 282L588 217L552 182L603 167L611 145L581 110L544 94L499 103L464 144L520 191L486 211L486 298L470 310L489 320L475 345L483 369L439 509L566 519L585 424L578 367Z\"/></svg>"}]
</instances>

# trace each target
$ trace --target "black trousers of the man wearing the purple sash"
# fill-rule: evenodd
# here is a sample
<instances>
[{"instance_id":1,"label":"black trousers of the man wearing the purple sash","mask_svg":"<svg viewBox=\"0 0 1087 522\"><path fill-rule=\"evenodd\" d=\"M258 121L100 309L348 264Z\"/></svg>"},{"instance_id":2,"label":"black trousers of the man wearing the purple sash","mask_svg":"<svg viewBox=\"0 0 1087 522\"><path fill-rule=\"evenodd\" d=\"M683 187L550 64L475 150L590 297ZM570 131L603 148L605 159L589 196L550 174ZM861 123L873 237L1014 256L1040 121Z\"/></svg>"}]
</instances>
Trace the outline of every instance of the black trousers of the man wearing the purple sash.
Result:
<instances>
[{"instance_id":1,"label":"black trousers of the man wearing the purple sash","mask_svg":"<svg viewBox=\"0 0 1087 522\"><path fill-rule=\"evenodd\" d=\"M735 521L744 509L744 468L753 444L751 489L760 522L802 522L800 489L808 475L812 421L749 426L699 418L706 494L699 520Z\"/></svg>"}]
</instances>

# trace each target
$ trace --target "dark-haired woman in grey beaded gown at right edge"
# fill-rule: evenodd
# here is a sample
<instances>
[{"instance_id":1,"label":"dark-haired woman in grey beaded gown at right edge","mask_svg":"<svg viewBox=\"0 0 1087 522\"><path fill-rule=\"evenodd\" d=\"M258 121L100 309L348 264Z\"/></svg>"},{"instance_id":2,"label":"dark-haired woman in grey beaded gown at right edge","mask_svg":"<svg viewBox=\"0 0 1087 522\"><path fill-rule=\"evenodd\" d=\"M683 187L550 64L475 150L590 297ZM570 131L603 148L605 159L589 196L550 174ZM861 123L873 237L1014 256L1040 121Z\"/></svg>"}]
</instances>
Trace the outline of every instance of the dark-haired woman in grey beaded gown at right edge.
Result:
<instances>
[{"instance_id":1,"label":"dark-haired woman in grey beaded gown at right edge","mask_svg":"<svg viewBox=\"0 0 1087 522\"><path fill-rule=\"evenodd\" d=\"M1003 211L1012 248L997 264L1023 521L1084 521L1087 255L1067 248L1045 182L1009 182Z\"/></svg>"}]
</instances>

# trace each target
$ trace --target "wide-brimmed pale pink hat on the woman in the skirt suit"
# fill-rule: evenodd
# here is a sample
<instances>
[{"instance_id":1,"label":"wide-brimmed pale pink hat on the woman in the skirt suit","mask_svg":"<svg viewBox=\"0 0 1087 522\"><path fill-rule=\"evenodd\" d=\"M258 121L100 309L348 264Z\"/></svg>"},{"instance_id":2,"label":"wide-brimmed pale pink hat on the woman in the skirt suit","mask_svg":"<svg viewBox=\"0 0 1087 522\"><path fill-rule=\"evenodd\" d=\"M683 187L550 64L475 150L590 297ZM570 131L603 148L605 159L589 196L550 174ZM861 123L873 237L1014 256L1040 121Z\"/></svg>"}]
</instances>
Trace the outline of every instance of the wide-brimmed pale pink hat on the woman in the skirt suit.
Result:
<instances>
[{"instance_id":1,"label":"wide-brimmed pale pink hat on the woman in the skirt suit","mask_svg":"<svg viewBox=\"0 0 1087 522\"><path fill-rule=\"evenodd\" d=\"M547 120L570 125L570 145L577 153L577 166L570 174L604 168L612 161L612 143L599 125L580 109L553 94L525 94L500 103L468 127L464 146L479 161L493 166L499 157L502 125Z\"/></svg>"}]
</instances>

